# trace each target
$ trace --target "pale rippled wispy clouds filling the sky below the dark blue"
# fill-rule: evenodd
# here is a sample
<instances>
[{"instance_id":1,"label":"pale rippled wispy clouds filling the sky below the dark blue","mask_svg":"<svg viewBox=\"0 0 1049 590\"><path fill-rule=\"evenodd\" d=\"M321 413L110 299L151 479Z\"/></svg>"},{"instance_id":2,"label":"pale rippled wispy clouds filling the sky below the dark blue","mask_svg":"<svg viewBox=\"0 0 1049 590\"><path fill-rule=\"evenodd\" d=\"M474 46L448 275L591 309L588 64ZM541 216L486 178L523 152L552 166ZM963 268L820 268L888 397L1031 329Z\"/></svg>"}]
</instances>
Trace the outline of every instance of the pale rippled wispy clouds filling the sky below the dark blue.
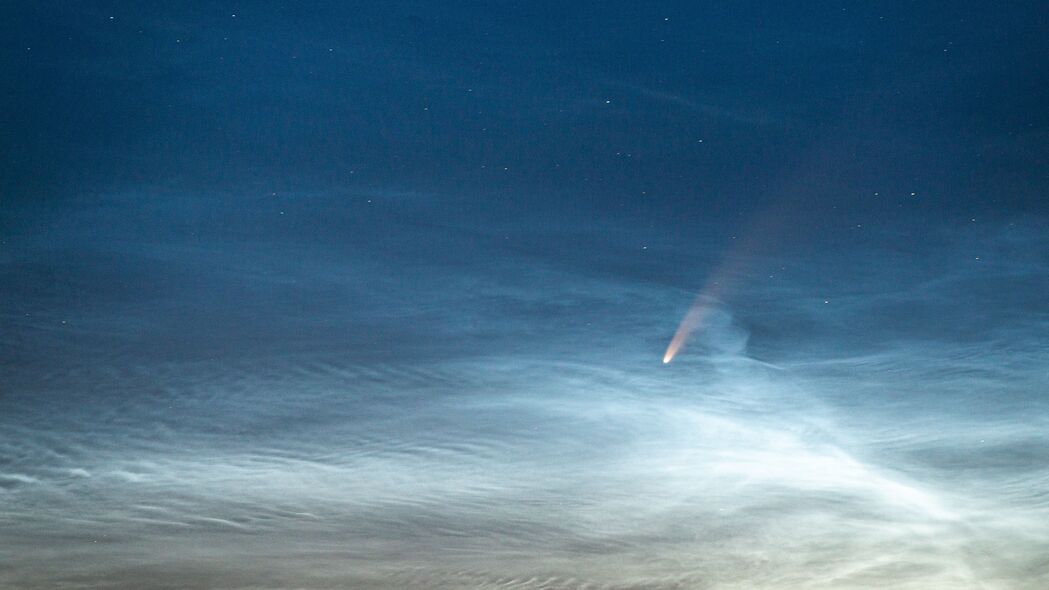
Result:
<instances>
[{"instance_id":1,"label":"pale rippled wispy clouds filling the sky below the dark blue","mask_svg":"<svg viewBox=\"0 0 1049 590\"><path fill-rule=\"evenodd\" d=\"M9 213L0 583L1049 584L1045 228L748 252L663 365L714 228L424 209Z\"/></svg>"}]
</instances>

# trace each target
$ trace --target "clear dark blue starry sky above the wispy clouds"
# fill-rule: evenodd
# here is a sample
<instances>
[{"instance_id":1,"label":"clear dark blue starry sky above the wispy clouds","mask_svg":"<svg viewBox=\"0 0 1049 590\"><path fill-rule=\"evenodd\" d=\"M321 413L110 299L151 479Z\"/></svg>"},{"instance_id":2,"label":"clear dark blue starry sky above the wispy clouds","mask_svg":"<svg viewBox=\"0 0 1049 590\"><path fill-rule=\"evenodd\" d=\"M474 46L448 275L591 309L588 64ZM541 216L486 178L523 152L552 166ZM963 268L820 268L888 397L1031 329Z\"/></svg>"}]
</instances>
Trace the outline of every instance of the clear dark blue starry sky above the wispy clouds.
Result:
<instances>
[{"instance_id":1,"label":"clear dark blue starry sky above the wispy clouds","mask_svg":"<svg viewBox=\"0 0 1049 590\"><path fill-rule=\"evenodd\" d=\"M865 207L876 191L920 191L945 216L1045 211L1037 2L5 13L3 180L19 199L393 185L508 215L668 220L768 198Z\"/></svg>"}]
</instances>

